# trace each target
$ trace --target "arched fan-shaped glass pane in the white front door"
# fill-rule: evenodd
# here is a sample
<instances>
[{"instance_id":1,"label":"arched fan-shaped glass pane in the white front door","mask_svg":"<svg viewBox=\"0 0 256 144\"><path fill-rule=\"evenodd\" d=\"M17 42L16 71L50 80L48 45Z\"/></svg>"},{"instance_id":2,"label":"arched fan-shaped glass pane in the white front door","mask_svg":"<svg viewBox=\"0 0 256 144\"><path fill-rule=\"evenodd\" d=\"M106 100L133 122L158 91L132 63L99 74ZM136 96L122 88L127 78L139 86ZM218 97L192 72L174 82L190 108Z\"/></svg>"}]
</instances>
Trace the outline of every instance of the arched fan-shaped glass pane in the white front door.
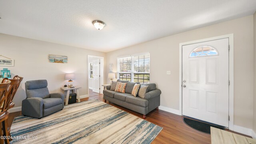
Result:
<instances>
[{"instance_id":1,"label":"arched fan-shaped glass pane in the white front door","mask_svg":"<svg viewBox=\"0 0 256 144\"><path fill-rule=\"evenodd\" d=\"M189 57L194 58L194 57L200 57L200 56L216 56L219 55L218 51L216 48L213 46L198 46L192 52L190 52Z\"/></svg>"}]
</instances>

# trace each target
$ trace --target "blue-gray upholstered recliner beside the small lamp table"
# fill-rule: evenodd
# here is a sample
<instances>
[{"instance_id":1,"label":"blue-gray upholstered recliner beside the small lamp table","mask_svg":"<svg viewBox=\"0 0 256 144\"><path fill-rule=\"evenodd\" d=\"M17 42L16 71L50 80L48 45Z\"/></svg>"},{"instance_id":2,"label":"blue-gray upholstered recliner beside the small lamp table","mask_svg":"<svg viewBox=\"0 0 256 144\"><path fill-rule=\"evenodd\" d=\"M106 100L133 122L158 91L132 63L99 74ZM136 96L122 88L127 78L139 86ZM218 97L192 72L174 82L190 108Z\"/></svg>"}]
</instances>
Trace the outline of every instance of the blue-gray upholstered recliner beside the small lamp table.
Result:
<instances>
[{"instance_id":1,"label":"blue-gray upholstered recliner beside the small lamp table","mask_svg":"<svg viewBox=\"0 0 256 144\"><path fill-rule=\"evenodd\" d=\"M22 100L22 114L38 119L64 108L62 93L49 93L47 80L30 80L25 83L26 96Z\"/></svg>"}]
</instances>

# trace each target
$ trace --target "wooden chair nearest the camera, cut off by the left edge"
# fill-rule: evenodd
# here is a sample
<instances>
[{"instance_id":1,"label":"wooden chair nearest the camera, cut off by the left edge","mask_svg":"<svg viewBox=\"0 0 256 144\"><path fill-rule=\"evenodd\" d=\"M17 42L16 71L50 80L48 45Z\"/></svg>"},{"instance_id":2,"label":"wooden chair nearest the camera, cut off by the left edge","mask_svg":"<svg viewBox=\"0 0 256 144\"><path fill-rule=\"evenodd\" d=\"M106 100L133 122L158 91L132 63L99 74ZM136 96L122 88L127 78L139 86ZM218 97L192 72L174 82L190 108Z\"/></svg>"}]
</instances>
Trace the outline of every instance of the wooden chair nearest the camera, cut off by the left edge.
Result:
<instances>
[{"instance_id":1,"label":"wooden chair nearest the camera, cut off by the left edge","mask_svg":"<svg viewBox=\"0 0 256 144\"><path fill-rule=\"evenodd\" d=\"M1 123L1 129L0 129L0 136L10 136L9 132L7 130L8 128L8 116L9 113L7 112L7 108L9 105L7 102L7 96L6 92L8 90L8 87L10 86L11 81L8 79L4 79L2 83L0 84L0 123ZM9 144L10 141L8 139L0 139L0 144Z\"/></svg>"}]
</instances>

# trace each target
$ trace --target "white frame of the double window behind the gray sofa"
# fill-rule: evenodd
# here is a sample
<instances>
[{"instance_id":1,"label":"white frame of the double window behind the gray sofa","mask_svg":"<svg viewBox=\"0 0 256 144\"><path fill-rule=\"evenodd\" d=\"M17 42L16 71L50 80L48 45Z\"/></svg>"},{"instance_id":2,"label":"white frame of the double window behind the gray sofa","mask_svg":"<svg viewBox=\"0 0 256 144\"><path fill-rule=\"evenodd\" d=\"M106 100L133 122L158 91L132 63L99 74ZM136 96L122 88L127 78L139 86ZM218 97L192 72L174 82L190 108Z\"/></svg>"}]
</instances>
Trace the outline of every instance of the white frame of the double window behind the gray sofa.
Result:
<instances>
[{"instance_id":1,"label":"white frame of the double window behind the gray sofa","mask_svg":"<svg viewBox=\"0 0 256 144\"><path fill-rule=\"evenodd\" d=\"M118 57L117 58L117 77L118 77L118 79L120 79L120 74L130 74L131 75L130 76L130 78L131 78L130 82L134 82L134 74L149 74L149 79L148 80L150 82L150 72L134 72L134 64L133 64L132 57L133 56L144 55L144 54L149 54L149 65L150 65L150 53L149 52ZM126 58L126 57L131 57L131 72L120 72L119 59L120 58ZM150 66L149 66L149 71L150 71ZM144 79L143 79L143 83L144 83Z\"/></svg>"}]
</instances>

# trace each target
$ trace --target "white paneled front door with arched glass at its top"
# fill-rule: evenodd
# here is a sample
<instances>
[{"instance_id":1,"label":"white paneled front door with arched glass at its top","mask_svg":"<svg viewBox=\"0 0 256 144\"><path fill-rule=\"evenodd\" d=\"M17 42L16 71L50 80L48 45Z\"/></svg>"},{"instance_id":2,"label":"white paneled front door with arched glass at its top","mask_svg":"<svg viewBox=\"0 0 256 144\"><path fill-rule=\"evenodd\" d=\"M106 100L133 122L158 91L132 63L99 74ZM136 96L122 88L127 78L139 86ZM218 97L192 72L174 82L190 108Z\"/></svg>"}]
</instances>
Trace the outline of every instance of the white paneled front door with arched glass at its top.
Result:
<instances>
[{"instance_id":1,"label":"white paneled front door with arched glass at its top","mask_svg":"<svg viewBox=\"0 0 256 144\"><path fill-rule=\"evenodd\" d=\"M182 46L182 115L228 127L228 38Z\"/></svg>"}]
</instances>

